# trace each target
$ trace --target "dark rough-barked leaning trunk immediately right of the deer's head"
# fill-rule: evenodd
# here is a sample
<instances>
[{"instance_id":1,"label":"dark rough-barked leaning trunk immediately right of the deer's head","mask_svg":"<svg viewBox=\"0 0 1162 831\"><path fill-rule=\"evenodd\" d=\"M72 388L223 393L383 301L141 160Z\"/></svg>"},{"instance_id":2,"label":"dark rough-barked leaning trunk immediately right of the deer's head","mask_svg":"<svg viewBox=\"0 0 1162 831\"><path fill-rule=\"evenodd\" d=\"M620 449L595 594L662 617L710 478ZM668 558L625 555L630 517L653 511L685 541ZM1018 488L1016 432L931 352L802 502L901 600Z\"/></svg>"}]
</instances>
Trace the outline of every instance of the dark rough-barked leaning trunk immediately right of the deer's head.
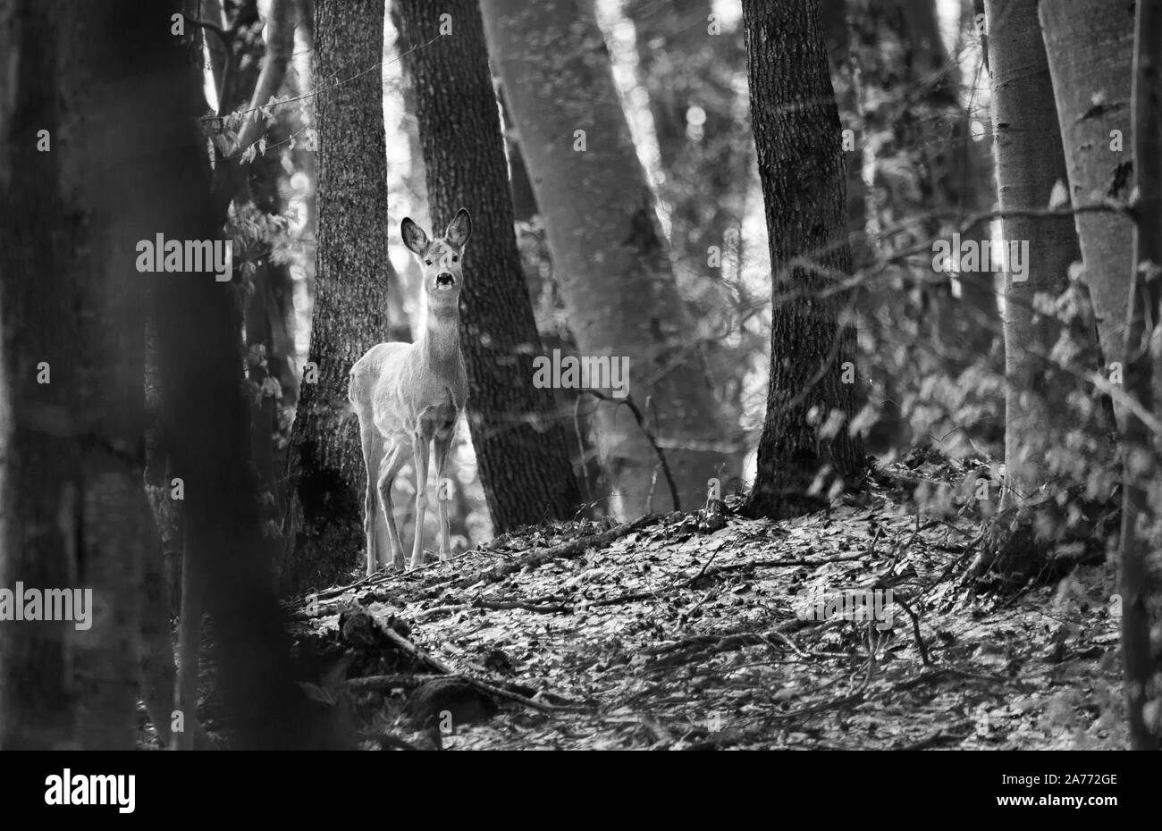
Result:
<instances>
[{"instance_id":1,"label":"dark rough-barked leaning trunk immediately right of the deer's head","mask_svg":"<svg viewBox=\"0 0 1162 831\"><path fill-rule=\"evenodd\" d=\"M512 229L503 132L475 0L396 0L428 180L440 234L459 208L473 217L460 298L468 427L496 531L573 516L580 502L553 391L532 386L543 353ZM452 33L439 36L440 14ZM428 44L436 40L431 45ZM451 94L453 93L454 94Z\"/></svg>"}]
</instances>

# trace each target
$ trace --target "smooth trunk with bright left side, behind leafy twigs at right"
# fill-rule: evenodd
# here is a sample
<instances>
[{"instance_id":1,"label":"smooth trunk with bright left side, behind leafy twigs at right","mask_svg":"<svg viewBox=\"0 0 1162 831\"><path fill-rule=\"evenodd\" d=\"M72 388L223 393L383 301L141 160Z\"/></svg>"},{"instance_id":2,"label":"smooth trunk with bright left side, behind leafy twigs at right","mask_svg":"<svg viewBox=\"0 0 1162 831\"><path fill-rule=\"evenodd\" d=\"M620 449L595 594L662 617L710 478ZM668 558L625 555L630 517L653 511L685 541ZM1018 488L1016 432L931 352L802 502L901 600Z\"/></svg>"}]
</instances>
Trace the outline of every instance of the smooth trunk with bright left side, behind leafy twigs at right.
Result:
<instances>
[{"instance_id":1,"label":"smooth trunk with bright left side, behind leafy twigs at right","mask_svg":"<svg viewBox=\"0 0 1162 831\"><path fill-rule=\"evenodd\" d=\"M1040 210L1067 174L1037 0L989 0L985 14L1000 209ZM1006 216L1002 224L1005 241L1028 242L1027 279L1005 274L1004 320L1006 486L1024 499L1045 482L1048 444L1062 435L1068 415L1062 402L1069 385L1038 357L1052 351L1060 325L1033 311L1033 296L1066 289L1078 250L1069 216Z\"/></svg>"}]
</instances>

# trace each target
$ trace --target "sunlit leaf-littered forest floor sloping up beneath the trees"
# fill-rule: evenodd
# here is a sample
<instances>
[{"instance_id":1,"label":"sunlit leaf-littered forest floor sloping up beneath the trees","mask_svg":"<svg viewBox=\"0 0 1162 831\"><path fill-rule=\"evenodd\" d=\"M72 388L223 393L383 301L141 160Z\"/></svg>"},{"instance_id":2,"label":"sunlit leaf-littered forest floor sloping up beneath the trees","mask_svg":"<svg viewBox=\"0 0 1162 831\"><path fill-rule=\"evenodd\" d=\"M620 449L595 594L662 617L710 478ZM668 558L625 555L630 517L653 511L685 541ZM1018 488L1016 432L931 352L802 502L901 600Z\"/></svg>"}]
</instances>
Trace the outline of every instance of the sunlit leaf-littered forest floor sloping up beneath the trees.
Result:
<instances>
[{"instance_id":1,"label":"sunlit leaf-littered forest floor sloping up beneath the trees","mask_svg":"<svg viewBox=\"0 0 1162 831\"><path fill-rule=\"evenodd\" d=\"M297 603L302 686L367 748L1125 746L1112 567L982 594L980 528L873 483L787 521L526 529ZM890 615L802 619L874 586Z\"/></svg>"}]
</instances>

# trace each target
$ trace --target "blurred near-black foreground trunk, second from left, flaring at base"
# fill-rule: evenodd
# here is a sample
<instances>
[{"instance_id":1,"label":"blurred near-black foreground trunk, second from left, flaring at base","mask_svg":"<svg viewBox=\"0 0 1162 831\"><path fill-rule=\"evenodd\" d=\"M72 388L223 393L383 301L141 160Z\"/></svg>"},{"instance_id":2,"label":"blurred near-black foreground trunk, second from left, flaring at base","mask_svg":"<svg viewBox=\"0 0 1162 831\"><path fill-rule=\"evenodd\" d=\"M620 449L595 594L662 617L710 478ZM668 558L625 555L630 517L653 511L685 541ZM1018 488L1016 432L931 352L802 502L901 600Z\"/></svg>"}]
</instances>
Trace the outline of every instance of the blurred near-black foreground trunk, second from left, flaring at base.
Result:
<instances>
[{"instance_id":1,"label":"blurred near-black foreground trunk, second from left, flaring at base","mask_svg":"<svg viewBox=\"0 0 1162 831\"><path fill-rule=\"evenodd\" d=\"M157 21L146 20L157 37ZM174 135L149 145L167 149L163 158L168 175L157 177L164 198L152 203L153 215L144 224L166 239L218 239L224 216L208 199L209 170L193 126L201 103L200 79L188 72L179 50L167 55L165 70L159 79L165 106L149 112L157 113ZM237 293L237 275L232 282L217 282L213 274L198 272L167 273L157 288L163 421L172 437L171 472L181 480L185 509L182 635L188 623L198 622L187 609L205 609L214 621L215 692L236 730L232 746L327 747L331 746L327 725L295 685L289 638L272 588L273 552L261 532L250 473L251 422ZM179 667L182 739L196 729L194 702L185 692L196 683L191 678L196 643L184 650L191 664Z\"/></svg>"}]
</instances>

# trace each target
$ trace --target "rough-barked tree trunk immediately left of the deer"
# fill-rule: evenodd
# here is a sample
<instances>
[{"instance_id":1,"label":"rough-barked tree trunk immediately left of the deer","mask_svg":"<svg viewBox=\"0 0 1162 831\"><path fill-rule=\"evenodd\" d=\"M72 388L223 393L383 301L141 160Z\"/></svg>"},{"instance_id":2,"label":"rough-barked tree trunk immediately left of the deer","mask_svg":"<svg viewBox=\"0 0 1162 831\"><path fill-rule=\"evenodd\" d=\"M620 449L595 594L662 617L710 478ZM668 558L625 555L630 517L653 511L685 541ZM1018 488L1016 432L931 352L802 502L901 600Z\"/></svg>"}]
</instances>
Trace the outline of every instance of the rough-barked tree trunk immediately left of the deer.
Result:
<instances>
[{"instance_id":1,"label":"rough-barked tree trunk immediately left of the deer","mask_svg":"<svg viewBox=\"0 0 1162 831\"><path fill-rule=\"evenodd\" d=\"M325 87L315 98L317 293L287 461L286 590L349 575L363 551L365 473L347 372L387 339L388 323L383 95L379 71L368 70L382 60L382 0L317 0L315 43Z\"/></svg>"}]
</instances>

